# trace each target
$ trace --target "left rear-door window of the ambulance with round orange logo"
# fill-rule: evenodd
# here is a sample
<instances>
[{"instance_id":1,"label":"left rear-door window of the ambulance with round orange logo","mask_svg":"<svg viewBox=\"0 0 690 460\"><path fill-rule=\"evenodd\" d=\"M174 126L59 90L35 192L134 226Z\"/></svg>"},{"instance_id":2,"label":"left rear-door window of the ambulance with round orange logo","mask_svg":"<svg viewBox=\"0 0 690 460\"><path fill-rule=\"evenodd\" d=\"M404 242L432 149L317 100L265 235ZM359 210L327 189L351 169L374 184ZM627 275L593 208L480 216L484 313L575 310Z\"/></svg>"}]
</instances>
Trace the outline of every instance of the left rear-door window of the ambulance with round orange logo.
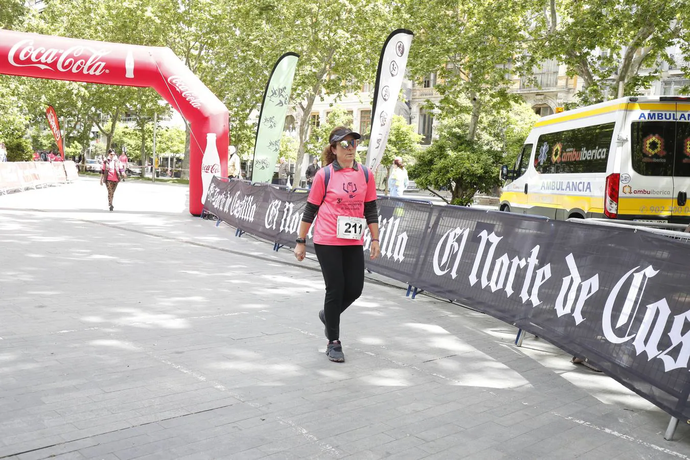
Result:
<instances>
[{"instance_id":1,"label":"left rear-door window of the ambulance with round orange logo","mask_svg":"<svg viewBox=\"0 0 690 460\"><path fill-rule=\"evenodd\" d=\"M635 121L631 124L630 146L633 170L643 176L673 175L676 149L676 123L673 121Z\"/></svg>"}]
</instances>

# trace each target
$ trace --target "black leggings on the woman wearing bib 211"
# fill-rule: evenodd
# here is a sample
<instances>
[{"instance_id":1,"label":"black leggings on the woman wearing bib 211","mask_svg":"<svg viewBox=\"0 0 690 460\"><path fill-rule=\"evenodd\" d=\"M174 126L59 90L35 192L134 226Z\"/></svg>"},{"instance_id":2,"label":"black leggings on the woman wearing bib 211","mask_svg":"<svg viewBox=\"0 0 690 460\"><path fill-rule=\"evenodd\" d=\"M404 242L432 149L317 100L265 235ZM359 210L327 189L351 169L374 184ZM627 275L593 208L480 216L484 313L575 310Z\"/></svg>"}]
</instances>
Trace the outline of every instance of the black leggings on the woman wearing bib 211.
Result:
<instances>
[{"instance_id":1,"label":"black leggings on the woman wearing bib 211","mask_svg":"<svg viewBox=\"0 0 690 460\"><path fill-rule=\"evenodd\" d=\"M340 314L362 295L364 289L364 247L314 244L326 281L326 330L328 340L340 339Z\"/></svg>"}]
</instances>

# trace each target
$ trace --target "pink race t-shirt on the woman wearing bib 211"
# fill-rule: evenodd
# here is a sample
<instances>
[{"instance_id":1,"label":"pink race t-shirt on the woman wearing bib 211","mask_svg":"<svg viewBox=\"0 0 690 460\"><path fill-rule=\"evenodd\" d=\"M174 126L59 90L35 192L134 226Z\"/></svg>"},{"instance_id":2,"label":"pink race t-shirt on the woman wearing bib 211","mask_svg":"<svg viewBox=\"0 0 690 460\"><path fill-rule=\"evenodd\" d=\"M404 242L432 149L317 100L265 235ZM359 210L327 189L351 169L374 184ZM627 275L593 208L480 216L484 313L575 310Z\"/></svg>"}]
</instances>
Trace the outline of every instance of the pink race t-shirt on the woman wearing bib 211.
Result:
<instances>
[{"instance_id":1,"label":"pink race t-shirt on the woman wearing bib 211","mask_svg":"<svg viewBox=\"0 0 690 460\"><path fill-rule=\"evenodd\" d=\"M331 246L362 246L364 244L364 237L346 239L336 236L338 216L364 218L364 203L376 199L374 174L369 171L367 183L364 180L362 165L357 163L355 165L356 170L354 168L336 170L333 165L328 165L317 171L307 200L319 206L319 212L314 221L314 243ZM331 169L331 178L328 179L328 193L322 204L326 192L324 190L326 168Z\"/></svg>"}]
</instances>

